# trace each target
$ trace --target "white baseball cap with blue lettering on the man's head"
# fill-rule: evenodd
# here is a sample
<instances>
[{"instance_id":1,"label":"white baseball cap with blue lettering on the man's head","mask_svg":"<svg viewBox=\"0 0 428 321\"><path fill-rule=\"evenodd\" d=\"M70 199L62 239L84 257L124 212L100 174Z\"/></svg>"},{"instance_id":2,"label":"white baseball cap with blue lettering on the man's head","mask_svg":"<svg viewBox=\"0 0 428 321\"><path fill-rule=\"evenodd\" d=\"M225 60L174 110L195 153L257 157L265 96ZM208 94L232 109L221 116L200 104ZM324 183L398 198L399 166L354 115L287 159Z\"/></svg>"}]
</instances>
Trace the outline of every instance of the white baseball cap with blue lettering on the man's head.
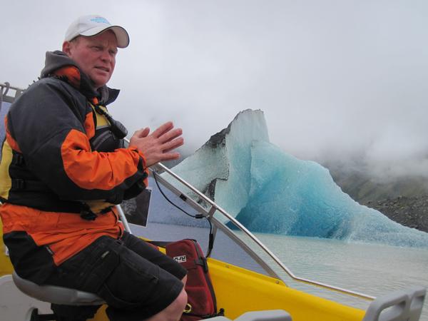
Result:
<instances>
[{"instance_id":1,"label":"white baseball cap with blue lettering on the man's head","mask_svg":"<svg viewBox=\"0 0 428 321\"><path fill-rule=\"evenodd\" d=\"M68 27L65 41L71 41L76 36L96 36L101 32L111 30L116 35L119 48L129 44L128 32L121 26L112 26L106 18L97 15L81 16Z\"/></svg>"}]
</instances>

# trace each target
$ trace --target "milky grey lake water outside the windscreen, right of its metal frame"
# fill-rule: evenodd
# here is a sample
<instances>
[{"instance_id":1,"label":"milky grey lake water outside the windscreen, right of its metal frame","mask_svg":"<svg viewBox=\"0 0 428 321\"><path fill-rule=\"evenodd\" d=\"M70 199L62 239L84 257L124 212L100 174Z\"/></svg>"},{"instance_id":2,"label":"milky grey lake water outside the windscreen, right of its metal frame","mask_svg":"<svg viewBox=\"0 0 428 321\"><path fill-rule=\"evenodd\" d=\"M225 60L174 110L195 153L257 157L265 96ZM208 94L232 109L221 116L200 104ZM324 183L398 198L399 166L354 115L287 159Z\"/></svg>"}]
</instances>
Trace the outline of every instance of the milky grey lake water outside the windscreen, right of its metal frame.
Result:
<instances>
[{"instance_id":1,"label":"milky grey lake water outside the windscreen, right of its metal frame","mask_svg":"<svg viewBox=\"0 0 428 321\"><path fill-rule=\"evenodd\" d=\"M297 276L384 295L412 285L428 287L428 249L345 243L337 240L257 235ZM370 301L288 281L292 287L366 309ZM421 320L428 320L428 300Z\"/></svg>"}]
</instances>

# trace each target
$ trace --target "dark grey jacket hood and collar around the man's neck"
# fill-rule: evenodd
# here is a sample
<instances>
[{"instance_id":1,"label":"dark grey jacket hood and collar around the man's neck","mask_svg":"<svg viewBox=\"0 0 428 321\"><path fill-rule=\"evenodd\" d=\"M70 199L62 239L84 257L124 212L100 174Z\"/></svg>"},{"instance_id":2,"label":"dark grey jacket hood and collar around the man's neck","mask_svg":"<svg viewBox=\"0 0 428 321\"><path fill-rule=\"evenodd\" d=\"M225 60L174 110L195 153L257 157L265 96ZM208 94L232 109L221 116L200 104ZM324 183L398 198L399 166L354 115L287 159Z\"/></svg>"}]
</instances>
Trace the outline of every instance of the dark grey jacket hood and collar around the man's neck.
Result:
<instances>
[{"instance_id":1,"label":"dark grey jacket hood and collar around the man's neck","mask_svg":"<svg viewBox=\"0 0 428 321\"><path fill-rule=\"evenodd\" d=\"M64 54L63 51L57 50L46 52L45 66L41 70L40 78L56 76L55 72L58 71L58 69L61 69L66 66L73 66L78 69L81 81L79 88L76 89L83 93L86 98L91 99L96 97L98 98L98 101L100 101L101 104L108 105L109 103L115 101L118 97L118 89L108 88L107 86L102 86L101 88L98 88L98 90L93 88L93 83L91 79L86 76L86 74L81 71L77 63L74 62L73 59L68 57L66 54ZM66 79L61 79L66 81Z\"/></svg>"}]
</instances>

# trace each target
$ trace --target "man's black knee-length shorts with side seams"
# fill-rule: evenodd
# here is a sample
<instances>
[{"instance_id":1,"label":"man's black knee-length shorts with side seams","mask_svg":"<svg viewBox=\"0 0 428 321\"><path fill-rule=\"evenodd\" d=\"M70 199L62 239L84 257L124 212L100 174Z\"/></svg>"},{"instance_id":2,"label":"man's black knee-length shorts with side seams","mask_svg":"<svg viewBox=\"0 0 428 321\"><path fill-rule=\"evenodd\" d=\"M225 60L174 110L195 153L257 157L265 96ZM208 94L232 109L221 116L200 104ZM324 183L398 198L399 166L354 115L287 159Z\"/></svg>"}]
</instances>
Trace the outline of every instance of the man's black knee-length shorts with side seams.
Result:
<instances>
[{"instance_id":1,"label":"man's black knee-length shorts with side seams","mask_svg":"<svg viewBox=\"0 0 428 321\"><path fill-rule=\"evenodd\" d=\"M110 320L132 321L168 307L183 289L185 275L174 260L125 233L121 240L98 238L59 265L46 284L96 293L106 301ZM53 305L56 313L61 307Z\"/></svg>"}]
</instances>

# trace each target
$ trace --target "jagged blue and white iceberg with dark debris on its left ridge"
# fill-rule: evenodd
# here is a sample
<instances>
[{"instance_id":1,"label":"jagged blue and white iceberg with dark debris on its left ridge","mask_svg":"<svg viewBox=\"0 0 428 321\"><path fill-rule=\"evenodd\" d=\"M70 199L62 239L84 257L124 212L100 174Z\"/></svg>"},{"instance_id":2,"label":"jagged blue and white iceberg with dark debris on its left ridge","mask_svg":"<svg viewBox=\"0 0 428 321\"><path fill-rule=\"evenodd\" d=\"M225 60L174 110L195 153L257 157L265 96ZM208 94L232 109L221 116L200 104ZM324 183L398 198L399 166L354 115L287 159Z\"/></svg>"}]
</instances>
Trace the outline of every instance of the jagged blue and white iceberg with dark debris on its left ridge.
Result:
<instances>
[{"instance_id":1,"label":"jagged blue and white iceberg with dark debris on its left ridge","mask_svg":"<svg viewBox=\"0 0 428 321\"><path fill-rule=\"evenodd\" d=\"M326 168L270 143L262 111L239 113L173 171L253 232L428 246L428 233L360 205L342 192ZM200 225L165 215L170 214L157 220Z\"/></svg>"}]
</instances>

